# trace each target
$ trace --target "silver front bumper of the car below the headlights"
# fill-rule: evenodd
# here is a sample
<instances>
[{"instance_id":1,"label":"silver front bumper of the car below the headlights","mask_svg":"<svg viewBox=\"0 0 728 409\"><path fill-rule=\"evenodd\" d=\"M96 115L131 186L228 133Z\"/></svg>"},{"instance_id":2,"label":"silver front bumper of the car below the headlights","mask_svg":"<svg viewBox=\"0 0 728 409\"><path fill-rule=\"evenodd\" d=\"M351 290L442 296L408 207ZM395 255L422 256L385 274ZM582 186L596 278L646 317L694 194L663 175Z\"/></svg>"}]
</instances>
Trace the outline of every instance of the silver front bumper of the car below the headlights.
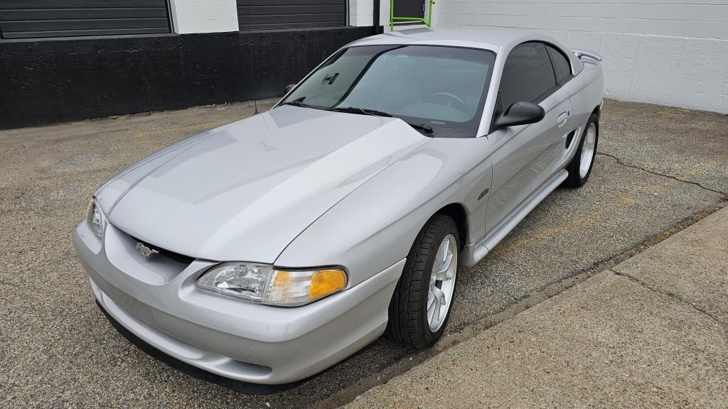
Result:
<instances>
[{"instance_id":1,"label":"silver front bumper of the car below the headlights","mask_svg":"<svg viewBox=\"0 0 728 409\"><path fill-rule=\"evenodd\" d=\"M216 376L286 384L343 360L384 332L404 260L321 301L296 308L243 303L194 288L215 263L144 259L108 225L103 243L80 223L74 247L100 307L154 349Z\"/></svg>"}]
</instances>

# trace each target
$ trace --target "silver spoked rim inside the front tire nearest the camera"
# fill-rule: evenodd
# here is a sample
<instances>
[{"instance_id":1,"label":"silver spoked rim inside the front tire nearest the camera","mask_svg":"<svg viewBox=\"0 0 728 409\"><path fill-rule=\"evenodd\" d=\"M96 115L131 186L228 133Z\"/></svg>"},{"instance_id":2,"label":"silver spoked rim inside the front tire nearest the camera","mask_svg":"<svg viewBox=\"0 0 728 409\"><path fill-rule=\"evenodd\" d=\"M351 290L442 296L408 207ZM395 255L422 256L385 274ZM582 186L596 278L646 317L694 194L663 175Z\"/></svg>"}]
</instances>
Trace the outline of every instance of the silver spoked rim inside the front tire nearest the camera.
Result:
<instances>
[{"instance_id":1,"label":"silver spoked rim inside the front tire nearest the camera","mask_svg":"<svg viewBox=\"0 0 728 409\"><path fill-rule=\"evenodd\" d=\"M426 316L430 331L437 332L443 326L452 303L457 274L457 241L448 234L440 242L430 273L427 290Z\"/></svg>"}]
</instances>

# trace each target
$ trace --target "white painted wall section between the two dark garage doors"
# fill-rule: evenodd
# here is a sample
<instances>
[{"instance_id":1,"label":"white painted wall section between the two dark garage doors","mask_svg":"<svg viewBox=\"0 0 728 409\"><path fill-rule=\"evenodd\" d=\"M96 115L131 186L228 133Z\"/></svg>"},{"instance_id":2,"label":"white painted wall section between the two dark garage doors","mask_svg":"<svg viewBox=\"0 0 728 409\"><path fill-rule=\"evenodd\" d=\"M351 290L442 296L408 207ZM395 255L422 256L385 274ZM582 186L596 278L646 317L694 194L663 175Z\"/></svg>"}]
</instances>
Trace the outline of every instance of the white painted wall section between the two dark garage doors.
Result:
<instances>
[{"instance_id":1,"label":"white painted wall section between the two dark garage doors","mask_svg":"<svg viewBox=\"0 0 728 409\"><path fill-rule=\"evenodd\" d=\"M175 33L238 31L236 0L170 0Z\"/></svg>"}]
</instances>

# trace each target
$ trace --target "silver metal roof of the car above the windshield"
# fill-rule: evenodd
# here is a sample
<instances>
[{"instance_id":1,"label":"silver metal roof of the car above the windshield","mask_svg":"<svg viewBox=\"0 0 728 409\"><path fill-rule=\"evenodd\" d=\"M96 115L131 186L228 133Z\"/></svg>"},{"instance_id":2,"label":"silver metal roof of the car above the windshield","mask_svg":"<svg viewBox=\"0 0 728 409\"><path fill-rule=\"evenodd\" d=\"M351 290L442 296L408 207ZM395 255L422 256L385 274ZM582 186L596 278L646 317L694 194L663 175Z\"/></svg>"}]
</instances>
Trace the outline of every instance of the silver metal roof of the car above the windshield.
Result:
<instances>
[{"instance_id":1,"label":"silver metal roof of the car above the windshield","mask_svg":"<svg viewBox=\"0 0 728 409\"><path fill-rule=\"evenodd\" d=\"M529 40L550 40L537 31L507 27L438 27L392 31L354 41L352 46L375 44L421 44L474 47L497 51Z\"/></svg>"}]
</instances>

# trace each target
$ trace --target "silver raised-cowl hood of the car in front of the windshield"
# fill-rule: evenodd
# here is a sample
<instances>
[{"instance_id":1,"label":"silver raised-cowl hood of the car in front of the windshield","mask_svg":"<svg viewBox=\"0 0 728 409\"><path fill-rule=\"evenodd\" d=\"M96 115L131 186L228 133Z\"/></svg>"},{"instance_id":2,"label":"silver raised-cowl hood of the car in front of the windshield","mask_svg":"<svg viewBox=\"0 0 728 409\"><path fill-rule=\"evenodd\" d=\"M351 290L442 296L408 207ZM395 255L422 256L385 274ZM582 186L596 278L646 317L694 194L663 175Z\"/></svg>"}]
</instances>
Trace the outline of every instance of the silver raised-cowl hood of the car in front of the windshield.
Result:
<instances>
[{"instance_id":1,"label":"silver raised-cowl hood of the car in front of the windshield","mask_svg":"<svg viewBox=\"0 0 728 409\"><path fill-rule=\"evenodd\" d=\"M428 140L400 119L281 106L153 155L98 197L114 226L152 246L273 263L336 202Z\"/></svg>"}]
</instances>

